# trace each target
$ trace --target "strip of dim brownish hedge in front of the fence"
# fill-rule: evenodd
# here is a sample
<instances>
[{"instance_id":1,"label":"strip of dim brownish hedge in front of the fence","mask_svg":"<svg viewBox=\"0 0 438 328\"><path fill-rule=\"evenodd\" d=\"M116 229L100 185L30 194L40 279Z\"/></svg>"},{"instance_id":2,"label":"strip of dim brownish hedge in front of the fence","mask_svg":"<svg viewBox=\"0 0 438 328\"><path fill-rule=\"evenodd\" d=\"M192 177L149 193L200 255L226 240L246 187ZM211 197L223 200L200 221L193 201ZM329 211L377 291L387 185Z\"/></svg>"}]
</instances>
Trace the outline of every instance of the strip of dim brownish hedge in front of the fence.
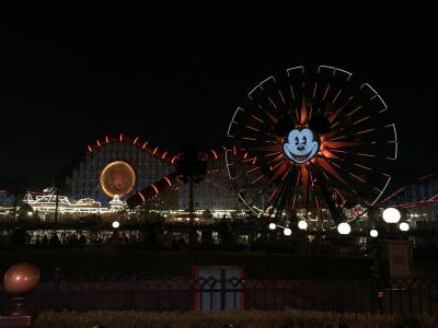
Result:
<instances>
[{"instance_id":1,"label":"strip of dim brownish hedge in front of the fence","mask_svg":"<svg viewBox=\"0 0 438 328\"><path fill-rule=\"evenodd\" d=\"M35 328L436 328L438 317L303 311L42 313Z\"/></svg>"}]
</instances>

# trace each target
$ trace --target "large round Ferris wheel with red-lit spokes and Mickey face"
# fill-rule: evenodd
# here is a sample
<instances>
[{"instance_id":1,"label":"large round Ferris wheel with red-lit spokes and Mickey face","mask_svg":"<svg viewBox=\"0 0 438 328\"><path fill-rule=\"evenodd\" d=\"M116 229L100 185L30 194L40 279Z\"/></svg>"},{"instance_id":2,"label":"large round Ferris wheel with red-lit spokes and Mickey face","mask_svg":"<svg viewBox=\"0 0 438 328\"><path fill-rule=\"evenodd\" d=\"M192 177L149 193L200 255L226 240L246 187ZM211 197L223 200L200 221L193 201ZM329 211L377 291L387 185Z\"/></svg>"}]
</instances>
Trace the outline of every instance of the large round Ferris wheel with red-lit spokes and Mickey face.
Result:
<instances>
[{"instance_id":1,"label":"large round Ferris wheel with red-lit spokes and Mickey face","mask_svg":"<svg viewBox=\"0 0 438 328\"><path fill-rule=\"evenodd\" d=\"M397 156L382 97L328 66L290 68L257 84L228 137L227 166L239 197L276 220L297 211L330 225L351 220L345 209L373 206Z\"/></svg>"}]
</instances>

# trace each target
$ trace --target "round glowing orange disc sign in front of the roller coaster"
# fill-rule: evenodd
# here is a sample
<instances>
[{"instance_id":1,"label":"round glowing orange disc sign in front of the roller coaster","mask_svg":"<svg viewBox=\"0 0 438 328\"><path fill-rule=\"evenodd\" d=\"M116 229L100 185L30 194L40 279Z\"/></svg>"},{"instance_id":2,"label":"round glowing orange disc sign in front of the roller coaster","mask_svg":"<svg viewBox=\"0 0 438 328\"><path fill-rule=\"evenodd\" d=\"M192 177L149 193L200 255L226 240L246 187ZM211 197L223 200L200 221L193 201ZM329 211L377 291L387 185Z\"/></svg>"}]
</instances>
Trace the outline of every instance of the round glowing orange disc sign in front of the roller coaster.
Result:
<instances>
[{"instance_id":1,"label":"round glowing orange disc sign in front of the roller coaster","mask_svg":"<svg viewBox=\"0 0 438 328\"><path fill-rule=\"evenodd\" d=\"M102 191L110 197L129 194L136 184L136 173L132 166L123 161L107 164L101 172Z\"/></svg>"}]
</instances>

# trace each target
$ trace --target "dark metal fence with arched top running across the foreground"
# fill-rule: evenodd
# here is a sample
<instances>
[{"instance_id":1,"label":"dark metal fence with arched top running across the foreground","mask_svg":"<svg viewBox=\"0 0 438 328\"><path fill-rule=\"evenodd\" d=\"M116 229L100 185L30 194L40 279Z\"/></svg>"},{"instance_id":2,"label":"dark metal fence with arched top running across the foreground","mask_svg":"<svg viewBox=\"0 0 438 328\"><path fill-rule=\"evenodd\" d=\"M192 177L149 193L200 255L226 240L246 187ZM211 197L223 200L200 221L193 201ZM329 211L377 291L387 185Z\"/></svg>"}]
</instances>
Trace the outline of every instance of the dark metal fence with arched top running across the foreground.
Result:
<instances>
[{"instance_id":1,"label":"dark metal fence with arched top running across the foreground","mask_svg":"<svg viewBox=\"0 0 438 328\"><path fill-rule=\"evenodd\" d=\"M379 293L380 292L380 293ZM381 293L383 292L383 293ZM334 312L437 314L438 281L418 278L379 281L243 280L214 278L124 279L90 278L43 282L28 297L28 306L43 309L192 311L194 300L234 300L231 308L299 308ZM7 295L0 290L0 302ZM211 308L212 308L212 302ZM223 304L221 304L221 308Z\"/></svg>"}]
</instances>

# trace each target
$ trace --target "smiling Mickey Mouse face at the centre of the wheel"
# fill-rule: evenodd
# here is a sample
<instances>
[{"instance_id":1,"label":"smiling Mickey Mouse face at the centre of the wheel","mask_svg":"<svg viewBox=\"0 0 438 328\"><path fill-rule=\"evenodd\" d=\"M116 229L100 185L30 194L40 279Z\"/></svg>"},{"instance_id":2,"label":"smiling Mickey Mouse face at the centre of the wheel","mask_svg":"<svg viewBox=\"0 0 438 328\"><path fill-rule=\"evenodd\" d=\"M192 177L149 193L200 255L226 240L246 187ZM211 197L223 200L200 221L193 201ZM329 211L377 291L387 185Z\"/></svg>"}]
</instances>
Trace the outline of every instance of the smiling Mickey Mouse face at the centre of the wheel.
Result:
<instances>
[{"instance_id":1,"label":"smiling Mickey Mouse face at the centre of the wheel","mask_svg":"<svg viewBox=\"0 0 438 328\"><path fill-rule=\"evenodd\" d=\"M320 149L314 132L309 129L293 129L283 144L283 151L291 161L302 164L311 160Z\"/></svg>"}]
</instances>

